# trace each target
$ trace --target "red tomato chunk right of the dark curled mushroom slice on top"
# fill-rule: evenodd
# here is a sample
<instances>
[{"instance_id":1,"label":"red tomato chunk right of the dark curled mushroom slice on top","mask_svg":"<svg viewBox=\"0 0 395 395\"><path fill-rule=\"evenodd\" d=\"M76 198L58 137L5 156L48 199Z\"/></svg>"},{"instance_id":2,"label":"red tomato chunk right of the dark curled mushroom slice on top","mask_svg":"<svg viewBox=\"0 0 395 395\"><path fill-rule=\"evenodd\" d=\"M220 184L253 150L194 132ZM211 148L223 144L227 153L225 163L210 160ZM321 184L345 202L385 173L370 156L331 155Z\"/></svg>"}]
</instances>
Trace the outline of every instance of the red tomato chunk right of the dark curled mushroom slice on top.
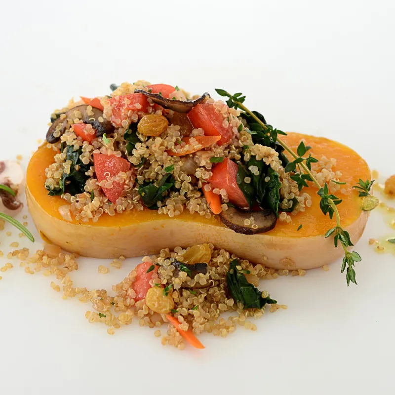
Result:
<instances>
[{"instance_id":1,"label":"red tomato chunk right of the dark curled mushroom slice on top","mask_svg":"<svg viewBox=\"0 0 395 395\"><path fill-rule=\"evenodd\" d=\"M221 136L218 145L224 145L232 139L232 126L223 126L224 118L215 112L211 103L198 104L188 113L188 118L196 129L201 127L206 136Z\"/></svg>"}]
</instances>

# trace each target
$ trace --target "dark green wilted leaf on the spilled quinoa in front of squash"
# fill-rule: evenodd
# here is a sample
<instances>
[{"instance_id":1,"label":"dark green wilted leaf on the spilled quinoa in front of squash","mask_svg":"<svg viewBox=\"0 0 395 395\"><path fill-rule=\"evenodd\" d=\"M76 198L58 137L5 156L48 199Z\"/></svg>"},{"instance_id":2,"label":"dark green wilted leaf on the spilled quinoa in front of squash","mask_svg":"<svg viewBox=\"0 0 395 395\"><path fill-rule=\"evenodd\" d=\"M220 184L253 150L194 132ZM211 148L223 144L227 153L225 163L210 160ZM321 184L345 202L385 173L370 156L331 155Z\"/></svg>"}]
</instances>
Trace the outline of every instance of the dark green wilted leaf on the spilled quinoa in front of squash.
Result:
<instances>
[{"instance_id":1,"label":"dark green wilted leaf on the spilled quinoa in front of squash","mask_svg":"<svg viewBox=\"0 0 395 395\"><path fill-rule=\"evenodd\" d=\"M276 304L276 300L269 296L262 297L262 292L245 278L244 271L238 269L238 261L234 259L229 265L226 274L226 284L232 298L240 304L243 309L262 309L266 304Z\"/></svg>"}]
</instances>

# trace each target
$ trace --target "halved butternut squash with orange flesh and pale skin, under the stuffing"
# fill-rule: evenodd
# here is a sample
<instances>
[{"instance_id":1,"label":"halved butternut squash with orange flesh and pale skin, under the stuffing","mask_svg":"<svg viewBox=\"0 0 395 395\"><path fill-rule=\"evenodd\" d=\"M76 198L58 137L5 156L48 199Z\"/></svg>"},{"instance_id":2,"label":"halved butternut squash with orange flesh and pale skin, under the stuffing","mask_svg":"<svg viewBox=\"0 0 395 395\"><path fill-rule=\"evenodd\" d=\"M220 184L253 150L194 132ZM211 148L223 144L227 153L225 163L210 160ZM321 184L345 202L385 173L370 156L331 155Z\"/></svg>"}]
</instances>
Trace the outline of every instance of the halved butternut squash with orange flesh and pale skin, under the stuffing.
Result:
<instances>
[{"instance_id":1,"label":"halved butternut squash with orange flesh and pale skin, under the stuffing","mask_svg":"<svg viewBox=\"0 0 395 395\"><path fill-rule=\"evenodd\" d=\"M349 230L355 243L362 235L368 215L362 211L361 198L352 186L356 185L359 178L370 179L366 162L350 148L326 138L298 133L281 137L294 151L303 139L306 145L312 147L309 153L313 157L336 159L332 170L341 171L340 180L347 183L341 186L345 194L340 191L336 193L337 197L343 199L338 209L342 226ZM177 245L187 247L212 242L216 247L277 269L318 267L336 260L342 254L340 248L333 247L332 240L323 237L328 229L335 226L335 219L330 220L320 211L315 186L304 189L312 197L312 207L295 216L291 215L290 224L277 221L272 231L261 235L236 234L226 228L218 216L207 219L188 211L169 218L155 210L132 210L115 216L104 214L96 223L83 224L75 219L68 222L59 213L59 207L67 202L58 196L48 196L44 187L45 169L53 162L55 154L55 151L43 145L33 155L27 169L26 193L38 230L66 250L85 256L112 258L158 253L161 248ZM299 225L303 227L297 231ZM298 248L299 252L309 251L308 257L303 256L303 253L296 254ZM327 249L324 256L322 248ZM280 262L284 258L291 259L292 267L289 262L285 266Z\"/></svg>"}]
</instances>

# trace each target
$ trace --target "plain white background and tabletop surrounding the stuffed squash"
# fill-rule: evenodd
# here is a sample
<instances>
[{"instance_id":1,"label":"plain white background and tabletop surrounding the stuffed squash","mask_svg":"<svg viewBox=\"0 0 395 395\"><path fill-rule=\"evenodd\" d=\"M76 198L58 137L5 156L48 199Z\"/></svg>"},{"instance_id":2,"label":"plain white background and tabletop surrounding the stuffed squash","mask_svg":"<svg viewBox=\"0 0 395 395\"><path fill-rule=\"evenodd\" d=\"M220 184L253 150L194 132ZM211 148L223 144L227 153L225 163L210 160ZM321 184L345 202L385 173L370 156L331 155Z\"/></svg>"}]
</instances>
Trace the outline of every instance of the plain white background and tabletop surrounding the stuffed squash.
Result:
<instances>
[{"instance_id":1,"label":"plain white background and tabletop surrounding the stuffed squash","mask_svg":"<svg viewBox=\"0 0 395 395\"><path fill-rule=\"evenodd\" d=\"M23 154L26 165L49 114L72 96L147 79L242 91L269 123L337 139L388 176L394 18L391 0L2 1L0 158ZM48 278L1 273L0 393L393 394L394 256L367 244L388 233L373 213L357 246L358 286L347 288L339 263L267 281L288 310L257 332L202 336L202 352L162 347L136 323L109 336ZM5 253L11 238L0 235ZM98 261L81 261L76 285L109 289L137 261L105 276Z\"/></svg>"}]
</instances>

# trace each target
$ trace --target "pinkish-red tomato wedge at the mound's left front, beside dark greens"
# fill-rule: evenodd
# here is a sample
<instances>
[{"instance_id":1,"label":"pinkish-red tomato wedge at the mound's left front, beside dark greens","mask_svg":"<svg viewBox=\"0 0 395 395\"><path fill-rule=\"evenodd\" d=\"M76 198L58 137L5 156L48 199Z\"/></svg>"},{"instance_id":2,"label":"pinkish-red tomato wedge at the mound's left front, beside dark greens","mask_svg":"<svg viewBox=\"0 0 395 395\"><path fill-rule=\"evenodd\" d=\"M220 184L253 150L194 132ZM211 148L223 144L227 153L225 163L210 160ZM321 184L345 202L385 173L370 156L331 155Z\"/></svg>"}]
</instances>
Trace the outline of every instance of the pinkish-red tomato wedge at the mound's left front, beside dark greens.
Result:
<instances>
[{"instance_id":1,"label":"pinkish-red tomato wedge at the mound's left front, beside dark greens","mask_svg":"<svg viewBox=\"0 0 395 395\"><path fill-rule=\"evenodd\" d=\"M100 181L107 180L107 176L116 177L119 172L127 172L130 169L130 163L123 158L114 155L93 154L93 163L95 165L96 177ZM115 204L118 197L123 191L123 182L113 181L113 188L103 188L104 195Z\"/></svg>"}]
</instances>

